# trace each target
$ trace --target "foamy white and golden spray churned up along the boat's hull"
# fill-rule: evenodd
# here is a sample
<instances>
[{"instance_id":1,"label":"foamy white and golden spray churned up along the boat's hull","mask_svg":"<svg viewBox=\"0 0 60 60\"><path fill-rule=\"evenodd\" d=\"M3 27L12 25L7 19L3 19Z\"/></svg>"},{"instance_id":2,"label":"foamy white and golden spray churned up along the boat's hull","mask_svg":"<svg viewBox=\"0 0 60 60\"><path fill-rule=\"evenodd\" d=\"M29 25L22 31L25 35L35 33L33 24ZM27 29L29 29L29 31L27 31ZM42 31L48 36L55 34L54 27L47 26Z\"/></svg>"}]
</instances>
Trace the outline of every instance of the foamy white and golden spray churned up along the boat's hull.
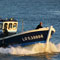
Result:
<instances>
[{"instance_id":1,"label":"foamy white and golden spray churned up along the boat's hull","mask_svg":"<svg viewBox=\"0 0 60 60\"><path fill-rule=\"evenodd\" d=\"M13 54L13 55L30 55L36 53L53 53L60 52L60 44L55 45L54 43L49 42L48 50L46 50L45 43L37 43L26 47L10 47L10 48L0 48L0 53L2 54Z\"/></svg>"}]
</instances>

